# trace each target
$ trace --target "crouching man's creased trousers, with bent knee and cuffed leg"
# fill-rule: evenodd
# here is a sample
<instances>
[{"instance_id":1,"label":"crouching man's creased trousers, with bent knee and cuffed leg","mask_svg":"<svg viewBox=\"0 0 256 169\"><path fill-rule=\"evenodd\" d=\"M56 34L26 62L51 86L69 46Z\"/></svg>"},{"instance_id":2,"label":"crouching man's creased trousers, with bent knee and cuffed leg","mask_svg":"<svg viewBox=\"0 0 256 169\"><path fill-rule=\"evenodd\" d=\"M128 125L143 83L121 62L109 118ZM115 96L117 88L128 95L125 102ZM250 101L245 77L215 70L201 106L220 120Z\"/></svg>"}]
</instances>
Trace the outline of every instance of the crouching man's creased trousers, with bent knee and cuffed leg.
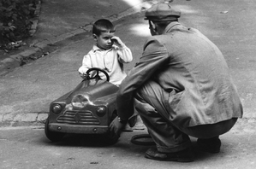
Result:
<instances>
[{"instance_id":1,"label":"crouching man's creased trousers, with bent knee and cuffed leg","mask_svg":"<svg viewBox=\"0 0 256 169\"><path fill-rule=\"evenodd\" d=\"M154 81L137 90L134 96L134 107L146 125L153 141L157 144L159 152L172 153L187 149L191 145L190 138L217 137L229 131L237 118L228 119L211 125L196 125L184 127L170 120L164 98L170 95Z\"/></svg>"}]
</instances>

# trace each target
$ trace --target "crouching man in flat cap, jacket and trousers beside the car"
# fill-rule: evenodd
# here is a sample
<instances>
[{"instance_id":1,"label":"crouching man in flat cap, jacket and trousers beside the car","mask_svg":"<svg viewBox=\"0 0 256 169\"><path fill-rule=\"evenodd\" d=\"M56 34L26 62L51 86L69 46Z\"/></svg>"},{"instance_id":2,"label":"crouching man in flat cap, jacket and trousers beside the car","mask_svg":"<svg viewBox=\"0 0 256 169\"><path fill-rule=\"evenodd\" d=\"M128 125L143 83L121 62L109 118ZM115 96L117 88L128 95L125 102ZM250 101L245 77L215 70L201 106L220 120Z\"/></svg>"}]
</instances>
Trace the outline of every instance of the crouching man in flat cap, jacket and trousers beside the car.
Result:
<instances>
[{"instance_id":1,"label":"crouching man in flat cap, jacket and trousers beside the car","mask_svg":"<svg viewBox=\"0 0 256 169\"><path fill-rule=\"evenodd\" d=\"M178 22L181 11L159 3L146 11L152 37L122 81L116 118L110 130L121 134L134 108L140 114L155 149L152 160L193 161L191 141L218 153L219 136L242 116L241 100L223 54L196 29Z\"/></svg>"}]
</instances>

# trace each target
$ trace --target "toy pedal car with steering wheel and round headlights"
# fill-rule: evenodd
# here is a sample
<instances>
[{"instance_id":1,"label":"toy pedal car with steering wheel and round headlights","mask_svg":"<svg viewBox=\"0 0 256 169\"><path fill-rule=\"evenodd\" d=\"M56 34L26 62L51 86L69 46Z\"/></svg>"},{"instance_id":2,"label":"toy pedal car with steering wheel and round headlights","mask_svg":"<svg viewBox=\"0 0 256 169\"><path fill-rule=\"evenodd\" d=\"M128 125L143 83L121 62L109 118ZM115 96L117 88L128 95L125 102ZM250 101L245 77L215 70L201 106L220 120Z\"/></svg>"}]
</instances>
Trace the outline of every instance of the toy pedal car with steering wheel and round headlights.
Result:
<instances>
[{"instance_id":1,"label":"toy pedal car with steering wheel and round headlights","mask_svg":"<svg viewBox=\"0 0 256 169\"><path fill-rule=\"evenodd\" d=\"M92 72L92 73L91 73ZM106 80L100 79L102 72ZM98 134L103 142L116 143L118 137L110 135L109 125L116 118L116 91L109 82L108 73L97 67L89 69L74 90L51 102L45 121L45 135L52 142L61 141L68 133Z\"/></svg>"}]
</instances>

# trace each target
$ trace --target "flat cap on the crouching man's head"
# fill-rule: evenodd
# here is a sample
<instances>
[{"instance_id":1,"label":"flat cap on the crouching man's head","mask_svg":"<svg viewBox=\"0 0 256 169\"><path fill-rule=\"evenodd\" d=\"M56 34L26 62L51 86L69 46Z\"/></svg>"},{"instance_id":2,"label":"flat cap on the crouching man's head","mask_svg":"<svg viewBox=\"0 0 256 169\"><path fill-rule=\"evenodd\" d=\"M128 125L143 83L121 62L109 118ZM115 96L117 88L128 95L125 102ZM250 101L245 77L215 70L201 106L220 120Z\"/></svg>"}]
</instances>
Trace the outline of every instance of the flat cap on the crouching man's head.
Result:
<instances>
[{"instance_id":1,"label":"flat cap on the crouching man's head","mask_svg":"<svg viewBox=\"0 0 256 169\"><path fill-rule=\"evenodd\" d=\"M146 10L145 20L169 21L181 16L181 10L171 7L168 3L159 3Z\"/></svg>"}]
</instances>

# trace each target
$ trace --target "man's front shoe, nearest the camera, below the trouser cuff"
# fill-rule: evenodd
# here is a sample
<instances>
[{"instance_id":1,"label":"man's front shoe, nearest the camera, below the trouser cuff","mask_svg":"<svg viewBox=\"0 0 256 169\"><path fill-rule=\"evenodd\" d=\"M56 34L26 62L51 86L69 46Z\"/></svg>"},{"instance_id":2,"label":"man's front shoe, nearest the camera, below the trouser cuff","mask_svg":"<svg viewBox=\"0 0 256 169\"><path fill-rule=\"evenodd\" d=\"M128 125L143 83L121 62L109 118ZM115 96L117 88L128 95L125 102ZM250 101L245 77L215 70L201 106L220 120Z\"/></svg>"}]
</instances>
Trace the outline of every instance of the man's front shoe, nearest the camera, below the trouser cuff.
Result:
<instances>
[{"instance_id":1,"label":"man's front shoe, nearest the camera, below the trouser cuff","mask_svg":"<svg viewBox=\"0 0 256 169\"><path fill-rule=\"evenodd\" d=\"M152 160L166 160L166 161L179 161L191 162L193 161L193 153L191 148L184 149L175 153L161 153L157 148L151 148L146 151L145 157Z\"/></svg>"}]
</instances>

